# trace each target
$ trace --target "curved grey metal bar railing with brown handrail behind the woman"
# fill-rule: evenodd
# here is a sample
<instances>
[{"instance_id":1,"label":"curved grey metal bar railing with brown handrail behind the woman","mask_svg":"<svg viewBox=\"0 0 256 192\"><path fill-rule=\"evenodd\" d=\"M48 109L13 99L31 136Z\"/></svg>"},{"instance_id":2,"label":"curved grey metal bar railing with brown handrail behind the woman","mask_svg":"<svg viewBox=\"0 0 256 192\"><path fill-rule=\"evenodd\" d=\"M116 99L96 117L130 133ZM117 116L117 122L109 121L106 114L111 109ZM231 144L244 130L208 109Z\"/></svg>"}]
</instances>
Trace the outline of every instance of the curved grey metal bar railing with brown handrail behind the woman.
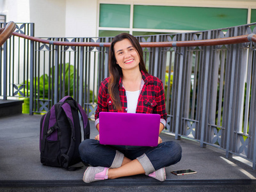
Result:
<instances>
[{"instance_id":1,"label":"curved grey metal bar railing with brown handrail behind the woman","mask_svg":"<svg viewBox=\"0 0 256 192\"><path fill-rule=\"evenodd\" d=\"M33 24L17 24L17 31L1 48L1 68L6 69L0 73L0 96L25 97L32 115L72 95L93 118L99 84L108 77L112 38L35 38L33 29ZM201 147L221 148L227 157L248 159L253 169L255 32L254 23L137 37L148 72L164 83L166 131L176 139L199 141ZM8 59L3 61L2 55ZM8 78L3 79L3 73Z\"/></svg>"}]
</instances>

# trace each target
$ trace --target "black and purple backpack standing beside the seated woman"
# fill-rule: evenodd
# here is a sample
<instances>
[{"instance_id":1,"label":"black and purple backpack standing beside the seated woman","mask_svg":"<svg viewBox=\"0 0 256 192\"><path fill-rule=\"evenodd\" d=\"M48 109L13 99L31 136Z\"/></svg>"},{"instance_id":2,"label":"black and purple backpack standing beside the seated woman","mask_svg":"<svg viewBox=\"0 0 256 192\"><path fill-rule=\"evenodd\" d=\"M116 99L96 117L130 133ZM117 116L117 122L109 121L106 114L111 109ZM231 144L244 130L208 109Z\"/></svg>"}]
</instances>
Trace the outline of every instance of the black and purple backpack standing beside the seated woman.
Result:
<instances>
[{"instance_id":1,"label":"black and purple backpack standing beside the seated woman","mask_svg":"<svg viewBox=\"0 0 256 192\"><path fill-rule=\"evenodd\" d=\"M83 120L84 140L90 138L90 124L83 108L70 96L63 97L40 121L40 159L47 166L76 170L70 166L81 161L79 144L82 134L79 113Z\"/></svg>"}]
</instances>

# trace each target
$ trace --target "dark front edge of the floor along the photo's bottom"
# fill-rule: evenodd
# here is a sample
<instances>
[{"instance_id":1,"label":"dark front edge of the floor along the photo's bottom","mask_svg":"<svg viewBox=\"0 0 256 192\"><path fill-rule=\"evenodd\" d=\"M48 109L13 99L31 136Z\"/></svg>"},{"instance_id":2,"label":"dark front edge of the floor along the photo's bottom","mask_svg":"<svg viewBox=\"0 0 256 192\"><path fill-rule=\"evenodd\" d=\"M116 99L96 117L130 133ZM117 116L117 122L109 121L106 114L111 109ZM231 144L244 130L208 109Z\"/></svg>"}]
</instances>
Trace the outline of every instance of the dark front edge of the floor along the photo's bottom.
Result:
<instances>
[{"instance_id":1,"label":"dark front edge of the floor along the photo's bottom","mask_svg":"<svg viewBox=\"0 0 256 192\"><path fill-rule=\"evenodd\" d=\"M240 192L255 191L255 180L165 180L109 179L90 184L82 180L0 180L0 191L182 191L182 192Z\"/></svg>"}]
</instances>

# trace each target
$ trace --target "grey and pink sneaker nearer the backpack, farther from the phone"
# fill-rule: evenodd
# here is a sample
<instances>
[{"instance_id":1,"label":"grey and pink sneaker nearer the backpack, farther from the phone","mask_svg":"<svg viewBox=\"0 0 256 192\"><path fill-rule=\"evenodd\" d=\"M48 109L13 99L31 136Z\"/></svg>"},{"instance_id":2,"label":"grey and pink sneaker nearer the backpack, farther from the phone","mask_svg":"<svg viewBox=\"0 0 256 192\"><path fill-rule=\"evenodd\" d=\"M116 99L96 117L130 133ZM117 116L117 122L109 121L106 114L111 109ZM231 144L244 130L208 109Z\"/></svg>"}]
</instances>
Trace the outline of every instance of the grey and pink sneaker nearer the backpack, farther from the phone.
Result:
<instances>
[{"instance_id":1,"label":"grey and pink sneaker nearer the backpack, farther from the phone","mask_svg":"<svg viewBox=\"0 0 256 192\"><path fill-rule=\"evenodd\" d=\"M108 169L109 168L102 166L89 166L84 172L83 181L89 183L97 180L108 179Z\"/></svg>"}]
</instances>

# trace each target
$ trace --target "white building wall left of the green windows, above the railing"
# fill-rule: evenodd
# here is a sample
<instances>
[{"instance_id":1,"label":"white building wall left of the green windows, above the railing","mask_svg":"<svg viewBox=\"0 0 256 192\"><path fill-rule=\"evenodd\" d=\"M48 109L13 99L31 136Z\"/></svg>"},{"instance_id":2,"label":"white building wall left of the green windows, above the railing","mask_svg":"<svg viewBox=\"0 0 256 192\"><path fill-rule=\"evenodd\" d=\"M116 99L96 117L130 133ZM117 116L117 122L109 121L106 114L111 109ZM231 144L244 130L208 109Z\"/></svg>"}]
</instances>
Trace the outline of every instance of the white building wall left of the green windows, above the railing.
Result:
<instances>
[{"instance_id":1,"label":"white building wall left of the green windows, above the railing","mask_svg":"<svg viewBox=\"0 0 256 192\"><path fill-rule=\"evenodd\" d=\"M35 36L96 36L97 1L0 0L6 22L34 22Z\"/></svg>"}]
</instances>

